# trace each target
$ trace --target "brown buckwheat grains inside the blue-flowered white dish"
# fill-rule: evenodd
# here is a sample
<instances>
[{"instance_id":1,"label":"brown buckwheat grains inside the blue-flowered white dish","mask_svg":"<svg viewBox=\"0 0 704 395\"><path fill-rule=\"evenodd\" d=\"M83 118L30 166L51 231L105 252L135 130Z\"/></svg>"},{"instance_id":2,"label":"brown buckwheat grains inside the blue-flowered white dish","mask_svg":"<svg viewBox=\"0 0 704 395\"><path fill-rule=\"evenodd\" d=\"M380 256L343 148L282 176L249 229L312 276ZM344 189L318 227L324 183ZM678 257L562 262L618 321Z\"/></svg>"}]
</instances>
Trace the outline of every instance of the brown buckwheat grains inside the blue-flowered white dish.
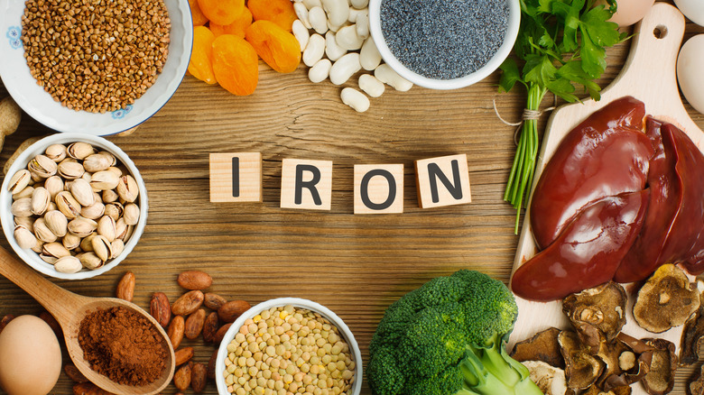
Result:
<instances>
[{"instance_id":1,"label":"brown buckwheat grains inside the blue-flowered white dish","mask_svg":"<svg viewBox=\"0 0 704 395\"><path fill-rule=\"evenodd\" d=\"M125 108L162 72L171 21L162 0L29 0L24 58L37 84L74 110Z\"/></svg>"}]
</instances>

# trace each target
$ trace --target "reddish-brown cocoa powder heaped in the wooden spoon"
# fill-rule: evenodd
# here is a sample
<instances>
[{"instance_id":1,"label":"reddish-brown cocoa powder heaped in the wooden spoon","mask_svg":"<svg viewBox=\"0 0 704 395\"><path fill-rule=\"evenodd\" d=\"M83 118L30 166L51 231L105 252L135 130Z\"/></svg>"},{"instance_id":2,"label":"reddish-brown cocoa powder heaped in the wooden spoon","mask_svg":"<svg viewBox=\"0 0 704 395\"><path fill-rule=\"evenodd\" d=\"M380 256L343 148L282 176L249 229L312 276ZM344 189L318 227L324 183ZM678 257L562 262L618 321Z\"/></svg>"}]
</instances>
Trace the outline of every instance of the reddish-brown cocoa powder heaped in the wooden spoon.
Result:
<instances>
[{"instance_id":1,"label":"reddish-brown cocoa powder heaped in the wooden spoon","mask_svg":"<svg viewBox=\"0 0 704 395\"><path fill-rule=\"evenodd\" d=\"M79 344L94 371L120 384L146 385L166 369L168 352L159 332L128 308L88 314L80 323Z\"/></svg>"}]
</instances>

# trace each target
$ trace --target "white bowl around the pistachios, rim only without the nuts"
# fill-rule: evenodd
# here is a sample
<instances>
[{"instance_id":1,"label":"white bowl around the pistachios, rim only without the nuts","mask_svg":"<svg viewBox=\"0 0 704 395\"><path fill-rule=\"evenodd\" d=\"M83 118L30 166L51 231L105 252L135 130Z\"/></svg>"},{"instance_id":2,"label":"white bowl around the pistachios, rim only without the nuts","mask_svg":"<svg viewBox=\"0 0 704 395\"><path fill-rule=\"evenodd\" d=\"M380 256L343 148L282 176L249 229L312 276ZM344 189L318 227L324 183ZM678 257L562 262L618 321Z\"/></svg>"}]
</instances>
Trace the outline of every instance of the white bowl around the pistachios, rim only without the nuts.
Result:
<instances>
[{"instance_id":1,"label":"white bowl around the pistachios, rim only without the nuts","mask_svg":"<svg viewBox=\"0 0 704 395\"><path fill-rule=\"evenodd\" d=\"M56 271L50 263L42 261L38 253L34 253L32 250L24 250L20 248L19 244L14 240L14 216L10 211L10 207L13 204L13 196L8 190L8 185L10 184L10 179L19 170L26 169L27 163L34 158L34 156L41 154L46 151L46 148L51 144L64 144L68 145L71 142L88 142L94 147L99 147L107 152L112 153L117 158L117 161L122 162L123 165L130 171L134 180L137 181L137 186L139 187L139 222L134 225L134 232L130 236L129 240L125 243L125 250L117 258L108 261L105 265L100 267L95 271L89 271L83 269L78 273L61 273ZM125 257L132 252L137 241L144 233L144 225L146 225L147 211L149 208L149 202L147 200L146 186L144 186L144 179L142 175L139 174L134 162L127 156L125 152L120 150L112 142L108 142L106 139L97 136L91 136L88 134L81 133L60 133L52 134L49 137L45 137L42 140L33 143L29 146L20 156L13 162L12 166L5 176L3 181L2 190L0 190L0 223L3 225L3 232L5 232L5 238L7 242L13 247L13 250L17 255L27 264L32 266L36 271L40 271L57 279L64 280L83 280L95 277L97 275L103 274L116 267L120 262L122 262Z\"/></svg>"}]
</instances>

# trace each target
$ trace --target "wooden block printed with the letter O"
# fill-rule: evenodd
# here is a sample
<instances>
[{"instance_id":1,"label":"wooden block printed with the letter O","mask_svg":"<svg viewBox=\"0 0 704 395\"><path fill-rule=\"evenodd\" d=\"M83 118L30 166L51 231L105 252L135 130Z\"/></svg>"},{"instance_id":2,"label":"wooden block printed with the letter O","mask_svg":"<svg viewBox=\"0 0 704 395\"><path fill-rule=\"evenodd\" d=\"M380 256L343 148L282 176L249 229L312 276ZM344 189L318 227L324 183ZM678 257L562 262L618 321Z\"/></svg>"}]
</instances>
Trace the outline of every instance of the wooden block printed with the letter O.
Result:
<instances>
[{"instance_id":1,"label":"wooden block printed with the letter O","mask_svg":"<svg viewBox=\"0 0 704 395\"><path fill-rule=\"evenodd\" d=\"M403 213L403 164L355 165L355 214Z\"/></svg>"}]
</instances>

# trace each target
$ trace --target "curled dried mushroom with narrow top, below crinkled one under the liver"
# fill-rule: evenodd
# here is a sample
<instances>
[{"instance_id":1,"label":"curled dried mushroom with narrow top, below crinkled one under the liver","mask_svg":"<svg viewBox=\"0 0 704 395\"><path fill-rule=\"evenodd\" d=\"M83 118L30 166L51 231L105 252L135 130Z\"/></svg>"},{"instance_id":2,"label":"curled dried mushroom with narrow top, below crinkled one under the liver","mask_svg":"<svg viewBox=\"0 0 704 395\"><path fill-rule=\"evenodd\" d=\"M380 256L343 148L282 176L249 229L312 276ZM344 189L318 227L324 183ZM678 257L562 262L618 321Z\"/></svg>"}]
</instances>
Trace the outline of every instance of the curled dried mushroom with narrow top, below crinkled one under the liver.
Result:
<instances>
[{"instance_id":1,"label":"curled dried mushroom with narrow top, below crinkled one under the liver","mask_svg":"<svg viewBox=\"0 0 704 395\"><path fill-rule=\"evenodd\" d=\"M558 341L565 359L567 386L574 390L584 390L597 382L604 371L604 363L588 353L588 349L579 341L579 336L572 331L562 331Z\"/></svg>"}]
</instances>

